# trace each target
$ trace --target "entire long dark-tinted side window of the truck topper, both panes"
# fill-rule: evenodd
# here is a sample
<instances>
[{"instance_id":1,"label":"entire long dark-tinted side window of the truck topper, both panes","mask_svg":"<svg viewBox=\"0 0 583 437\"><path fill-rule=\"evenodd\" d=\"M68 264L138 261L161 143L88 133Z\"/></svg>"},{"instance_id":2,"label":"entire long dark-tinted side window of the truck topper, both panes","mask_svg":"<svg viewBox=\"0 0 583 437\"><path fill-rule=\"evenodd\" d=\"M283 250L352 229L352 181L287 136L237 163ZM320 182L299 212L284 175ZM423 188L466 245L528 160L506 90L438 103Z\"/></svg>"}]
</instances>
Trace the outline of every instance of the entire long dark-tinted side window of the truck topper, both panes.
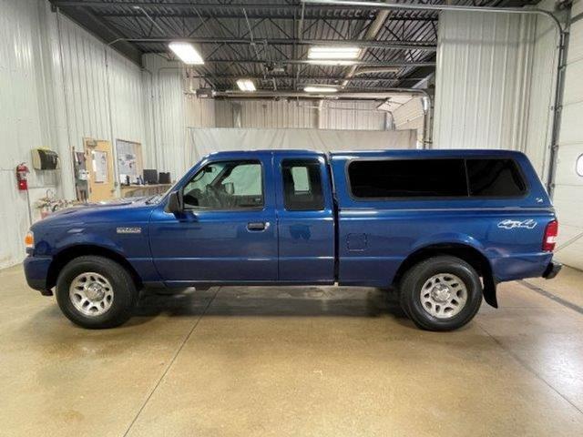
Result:
<instances>
[{"instance_id":1,"label":"entire long dark-tinted side window of the truck topper, both panes","mask_svg":"<svg viewBox=\"0 0 583 437\"><path fill-rule=\"evenodd\" d=\"M353 161L355 198L513 198L527 186L512 159L444 158Z\"/></svg>"}]
</instances>

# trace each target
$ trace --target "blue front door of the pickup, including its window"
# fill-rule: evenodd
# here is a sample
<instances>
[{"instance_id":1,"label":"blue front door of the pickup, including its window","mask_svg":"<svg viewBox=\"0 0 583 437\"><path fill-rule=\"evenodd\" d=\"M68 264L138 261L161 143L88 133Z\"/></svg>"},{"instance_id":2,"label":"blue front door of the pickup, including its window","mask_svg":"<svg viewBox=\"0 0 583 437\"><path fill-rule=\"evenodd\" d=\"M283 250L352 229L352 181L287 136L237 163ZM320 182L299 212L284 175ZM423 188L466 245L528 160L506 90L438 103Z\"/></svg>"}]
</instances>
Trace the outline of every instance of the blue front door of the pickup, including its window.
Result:
<instances>
[{"instance_id":1,"label":"blue front door of the pickup, including its window","mask_svg":"<svg viewBox=\"0 0 583 437\"><path fill-rule=\"evenodd\" d=\"M165 282L275 281L271 187L271 154L205 163L181 188L184 212L165 212L161 205L150 221L152 255Z\"/></svg>"}]
</instances>

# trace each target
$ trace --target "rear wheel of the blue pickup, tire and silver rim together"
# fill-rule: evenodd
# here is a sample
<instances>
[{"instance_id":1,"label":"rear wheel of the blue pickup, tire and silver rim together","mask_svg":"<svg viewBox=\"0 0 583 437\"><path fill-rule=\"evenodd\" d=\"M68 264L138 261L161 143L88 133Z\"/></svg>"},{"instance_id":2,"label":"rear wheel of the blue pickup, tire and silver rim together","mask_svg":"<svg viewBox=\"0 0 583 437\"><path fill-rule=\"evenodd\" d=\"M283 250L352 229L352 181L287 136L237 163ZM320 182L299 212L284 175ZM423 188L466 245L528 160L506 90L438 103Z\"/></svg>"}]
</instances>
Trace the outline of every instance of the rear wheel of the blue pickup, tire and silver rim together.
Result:
<instances>
[{"instance_id":1,"label":"rear wheel of the blue pickup, tire and silver rim together","mask_svg":"<svg viewBox=\"0 0 583 437\"><path fill-rule=\"evenodd\" d=\"M456 330L476 316L482 283L463 259L439 256L416 264L400 284L404 312L424 330Z\"/></svg>"}]
</instances>

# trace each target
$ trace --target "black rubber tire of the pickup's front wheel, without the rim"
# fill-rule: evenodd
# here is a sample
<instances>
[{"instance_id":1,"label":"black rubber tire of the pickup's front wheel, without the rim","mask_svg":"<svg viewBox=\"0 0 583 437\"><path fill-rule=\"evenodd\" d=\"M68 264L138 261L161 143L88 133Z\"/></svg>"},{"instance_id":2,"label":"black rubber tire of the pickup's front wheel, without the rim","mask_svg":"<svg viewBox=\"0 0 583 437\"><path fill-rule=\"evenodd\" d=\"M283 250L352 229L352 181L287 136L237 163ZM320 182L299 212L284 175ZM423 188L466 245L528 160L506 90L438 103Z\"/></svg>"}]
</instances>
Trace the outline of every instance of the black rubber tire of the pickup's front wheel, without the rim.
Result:
<instances>
[{"instance_id":1,"label":"black rubber tire of the pickup's front wheel, without the rim","mask_svg":"<svg viewBox=\"0 0 583 437\"><path fill-rule=\"evenodd\" d=\"M80 275L95 272L111 285L111 302L103 314L87 315L76 308L69 288ZM68 320L92 329L113 328L127 321L138 301L138 290L128 270L104 257L83 256L69 261L56 279L56 301Z\"/></svg>"}]
</instances>

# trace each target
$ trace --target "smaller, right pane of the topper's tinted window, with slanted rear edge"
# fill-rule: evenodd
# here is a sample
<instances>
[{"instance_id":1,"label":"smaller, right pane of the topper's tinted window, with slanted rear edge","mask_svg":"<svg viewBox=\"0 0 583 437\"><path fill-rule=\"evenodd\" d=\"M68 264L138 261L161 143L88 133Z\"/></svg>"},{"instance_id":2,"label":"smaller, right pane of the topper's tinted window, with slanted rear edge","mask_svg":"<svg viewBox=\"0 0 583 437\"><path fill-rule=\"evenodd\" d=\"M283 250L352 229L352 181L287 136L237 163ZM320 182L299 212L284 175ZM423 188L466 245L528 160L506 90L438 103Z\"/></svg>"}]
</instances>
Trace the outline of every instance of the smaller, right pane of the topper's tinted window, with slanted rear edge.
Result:
<instances>
[{"instance_id":1,"label":"smaller, right pane of the topper's tinted window, with slanted rear edge","mask_svg":"<svg viewBox=\"0 0 583 437\"><path fill-rule=\"evenodd\" d=\"M527 191L512 159L467 159L466 165L472 197L513 198Z\"/></svg>"}]
</instances>

